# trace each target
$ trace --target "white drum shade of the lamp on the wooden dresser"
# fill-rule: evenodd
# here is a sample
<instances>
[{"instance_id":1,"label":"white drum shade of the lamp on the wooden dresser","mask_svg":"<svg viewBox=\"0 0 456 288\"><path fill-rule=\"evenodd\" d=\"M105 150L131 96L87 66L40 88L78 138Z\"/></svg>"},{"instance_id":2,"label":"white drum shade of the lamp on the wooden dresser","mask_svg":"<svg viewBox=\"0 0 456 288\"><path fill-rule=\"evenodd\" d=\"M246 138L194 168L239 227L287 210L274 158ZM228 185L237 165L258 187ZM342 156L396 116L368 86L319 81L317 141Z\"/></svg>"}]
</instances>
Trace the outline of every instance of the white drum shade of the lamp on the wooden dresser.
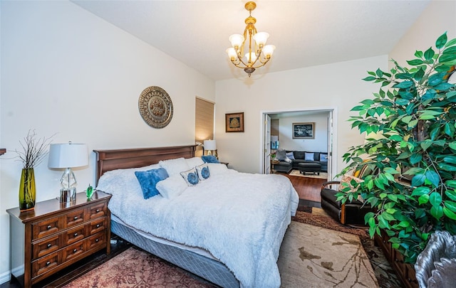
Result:
<instances>
[{"instance_id":1,"label":"white drum shade of the lamp on the wooden dresser","mask_svg":"<svg viewBox=\"0 0 456 288\"><path fill-rule=\"evenodd\" d=\"M51 144L49 146L49 168L72 168L87 165L87 144Z\"/></svg>"}]
</instances>

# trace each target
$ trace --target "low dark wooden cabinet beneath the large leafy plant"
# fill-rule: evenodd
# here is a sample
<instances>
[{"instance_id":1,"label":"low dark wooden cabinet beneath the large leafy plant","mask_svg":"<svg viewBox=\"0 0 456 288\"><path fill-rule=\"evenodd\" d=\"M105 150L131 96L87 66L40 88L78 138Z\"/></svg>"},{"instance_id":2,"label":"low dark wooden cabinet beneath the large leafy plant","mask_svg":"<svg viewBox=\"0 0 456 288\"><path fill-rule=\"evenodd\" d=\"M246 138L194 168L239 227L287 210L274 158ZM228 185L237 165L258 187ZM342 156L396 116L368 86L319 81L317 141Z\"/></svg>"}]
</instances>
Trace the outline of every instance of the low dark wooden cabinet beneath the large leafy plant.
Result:
<instances>
[{"instance_id":1,"label":"low dark wooden cabinet beneath the large leafy plant","mask_svg":"<svg viewBox=\"0 0 456 288\"><path fill-rule=\"evenodd\" d=\"M385 254L385 257L388 262L390 262L391 267L393 267L393 270L403 282L404 287L418 288L420 285L415 277L415 269L413 268L413 265L404 262L404 256L398 250L393 249L391 242L388 241L389 239L390 238L385 232L383 232L383 230L381 237L377 234L375 234L374 237L375 242L383 250L383 254Z\"/></svg>"}]
</instances>

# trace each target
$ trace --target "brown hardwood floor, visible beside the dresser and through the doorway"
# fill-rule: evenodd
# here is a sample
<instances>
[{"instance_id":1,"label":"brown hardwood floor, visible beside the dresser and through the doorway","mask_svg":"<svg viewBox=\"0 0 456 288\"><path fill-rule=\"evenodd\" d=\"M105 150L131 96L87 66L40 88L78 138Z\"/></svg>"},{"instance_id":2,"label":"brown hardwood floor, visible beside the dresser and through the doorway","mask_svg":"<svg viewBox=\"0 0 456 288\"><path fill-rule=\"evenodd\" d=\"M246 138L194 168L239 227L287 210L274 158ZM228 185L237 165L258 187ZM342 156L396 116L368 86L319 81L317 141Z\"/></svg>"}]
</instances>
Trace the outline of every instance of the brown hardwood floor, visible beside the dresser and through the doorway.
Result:
<instances>
[{"instance_id":1,"label":"brown hardwood floor, visible beside the dresser and through the doorway","mask_svg":"<svg viewBox=\"0 0 456 288\"><path fill-rule=\"evenodd\" d=\"M291 176L288 174L281 174L288 177L291 181L291 184L298 192L300 204L304 203L305 206L309 207L321 207L320 202L320 191L321 191L321 184L326 182L326 179L318 179L318 178L309 178L309 177L300 177L300 176ZM105 255L103 254L104 251L100 251L95 253L92 257L86 258L86 260L81 260L78 263L68 267L66 270L58 272L53 277L49 277L48 279L44 280L37 285L33 285L33 287L62 287L63 285L71 282L72 279L77 278L81 274L90 271L94 267L102 264L110 260L115 255L120 254L128 247L130 247L130 243L124 242L121 239L117 239L114 235L113 243L111 245L111 254ZM6 282L0 284L0 288L19 288L21 285L16 282Z\"/></svg>"}]
</instances>

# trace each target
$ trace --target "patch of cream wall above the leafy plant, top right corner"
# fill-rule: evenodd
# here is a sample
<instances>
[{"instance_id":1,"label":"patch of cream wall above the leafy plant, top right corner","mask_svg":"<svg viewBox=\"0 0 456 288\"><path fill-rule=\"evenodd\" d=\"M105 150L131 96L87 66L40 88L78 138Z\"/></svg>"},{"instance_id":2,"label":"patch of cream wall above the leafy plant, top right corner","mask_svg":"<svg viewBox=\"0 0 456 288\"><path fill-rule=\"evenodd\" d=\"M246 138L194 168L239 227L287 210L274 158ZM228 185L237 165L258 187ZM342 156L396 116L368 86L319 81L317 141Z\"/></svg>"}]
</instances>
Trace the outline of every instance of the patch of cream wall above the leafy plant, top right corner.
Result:
<instances>
[{"instance_id":1,"label":"patch of cream wall above the leafy plant, top right corner","mask_svg":"<svg viewBox=\"0 0 456 288\"><path fill-rule=\"evenodd\" d=\"M456 38L456 1L433 0L413 26L400 38L389 58L407 67L405 60L415 58L415 50L435 49L437 38L447 31L448 39ZM392 65L390 64L392 67Z\"/></svg>"}]
</instances>

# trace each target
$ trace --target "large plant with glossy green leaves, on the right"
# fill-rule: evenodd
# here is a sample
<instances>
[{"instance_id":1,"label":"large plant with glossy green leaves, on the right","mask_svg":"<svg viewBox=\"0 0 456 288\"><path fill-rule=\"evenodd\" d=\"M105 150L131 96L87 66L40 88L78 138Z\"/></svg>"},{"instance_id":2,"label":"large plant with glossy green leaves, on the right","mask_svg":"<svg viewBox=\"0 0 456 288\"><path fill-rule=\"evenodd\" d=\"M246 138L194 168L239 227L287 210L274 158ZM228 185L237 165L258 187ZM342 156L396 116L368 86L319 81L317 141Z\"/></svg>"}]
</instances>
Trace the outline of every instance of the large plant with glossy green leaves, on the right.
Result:
<instances>
[{"instance_id":1,"label":"large plant with glossy green leaves, on the right","mask_svg":"<svg viewBox=\"0 0 456 288\"><path fill-rule=\"evenodd\" d=\"M447 41L444 33L435 48L415 52L410 68L393 63L390 71L370 71L363 79L380 83L352 109L358 112L352 128L368 138L343 155L348 166L341 174L365 166L375 172L351 181L354 189L343 188L338 199L361 196L375 208L365 217L371 238L384 230L413 264L431 233L456 234L456 87L448 82L456 39Z\"/></svg>"}]
</instances>

